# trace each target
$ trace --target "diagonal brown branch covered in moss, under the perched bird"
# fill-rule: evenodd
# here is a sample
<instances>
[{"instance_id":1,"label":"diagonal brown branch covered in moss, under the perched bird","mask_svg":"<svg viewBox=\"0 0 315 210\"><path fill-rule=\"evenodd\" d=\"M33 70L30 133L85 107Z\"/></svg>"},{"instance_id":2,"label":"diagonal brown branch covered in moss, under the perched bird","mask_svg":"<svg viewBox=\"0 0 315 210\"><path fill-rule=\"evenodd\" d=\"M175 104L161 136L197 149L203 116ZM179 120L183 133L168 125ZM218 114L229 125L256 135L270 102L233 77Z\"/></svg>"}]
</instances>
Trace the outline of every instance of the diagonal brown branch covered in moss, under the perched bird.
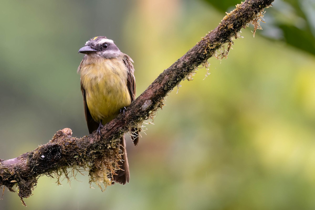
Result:
<instances>
[{"instance_id":1,"label":"diagonal brown branch covered in moss, under the perched bird","mask_svg":"<svg viewBox=\"0 0 315 210\"><path fill-rule=\"evenodd\" d=\"M271 6L273 0L246 0L236 5L236 9L227 13L219 26L203 37L180 59L164 70L157 79L128 107L125 116L117 116L101 130L102 138L92 133L83 138L72 137L69 128L58 131L52 140L10 160L0 159L0 186L14 191L23 198L31 195L37 179L42 175L60 177L69 176L79 168L89 171L90 182L101 187L111 184L108 174L119 168L119 139L131 128L141 128L145 120L152 118L158 108L163 106L164 97L184 79L190 79L199 65L207 65L212 57L226 57L232 45L232 39L238 38L239 31L249 23L259 29L264 9ZM254 31L255 33L255 31ZM218 54L218 50L227 43L227 48ZM70 172L70 173L71 173ZM58 179L59 181L59 179Z\"/></svg>"}]
</instances>

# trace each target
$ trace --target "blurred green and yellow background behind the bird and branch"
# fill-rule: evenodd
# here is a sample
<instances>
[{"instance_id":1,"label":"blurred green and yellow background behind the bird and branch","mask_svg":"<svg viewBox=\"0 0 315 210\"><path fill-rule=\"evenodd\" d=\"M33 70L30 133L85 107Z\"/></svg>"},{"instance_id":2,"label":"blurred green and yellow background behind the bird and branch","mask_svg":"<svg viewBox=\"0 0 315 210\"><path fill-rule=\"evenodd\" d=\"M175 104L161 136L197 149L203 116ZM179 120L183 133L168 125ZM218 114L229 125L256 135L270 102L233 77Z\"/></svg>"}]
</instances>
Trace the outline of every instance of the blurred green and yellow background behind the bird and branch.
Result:
<instances>
[{"instance_id":1,"label":"blurred green and yellow background behind the bird and branch","mask_svg":"<svg viewBox=\"0 0 315 210\"><path fill-rule=\"evenodd\" d=\"M107 36L135 61L137 96L214 29L231 1L2 1L0 158L62 128L88 134L79 48ZM40 177L28 209L315 209L313 0L280 1L266 24L181 82L137 147L131 179L101 192L87 176ZM2 190L1 190L2 191ZM1 210L26 209L7 190Z\"/></svg>"}]
</instances>

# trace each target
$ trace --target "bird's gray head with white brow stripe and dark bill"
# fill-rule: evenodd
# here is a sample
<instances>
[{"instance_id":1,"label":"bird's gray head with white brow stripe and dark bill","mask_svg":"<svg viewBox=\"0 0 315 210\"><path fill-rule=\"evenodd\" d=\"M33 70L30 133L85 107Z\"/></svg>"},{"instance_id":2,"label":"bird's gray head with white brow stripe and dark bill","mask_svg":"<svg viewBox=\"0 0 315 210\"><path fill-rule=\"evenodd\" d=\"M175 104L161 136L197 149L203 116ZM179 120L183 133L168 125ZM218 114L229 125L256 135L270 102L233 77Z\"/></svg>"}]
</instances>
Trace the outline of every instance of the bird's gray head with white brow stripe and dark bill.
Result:
<instances>
[{"instance_id":1,"label":"bird's gray head with white brow stripe and dark bill","mask_svg":"<svg viewBox=\"0 0 315 210\"><path fill-rule=\"evenodd\" d=\"M122 54L114 41L104 36L94 37L87 41L83 48L79 49L79 53L87 55L98 55L103 58L117 58Z\"/></svg>"}]
</instances>

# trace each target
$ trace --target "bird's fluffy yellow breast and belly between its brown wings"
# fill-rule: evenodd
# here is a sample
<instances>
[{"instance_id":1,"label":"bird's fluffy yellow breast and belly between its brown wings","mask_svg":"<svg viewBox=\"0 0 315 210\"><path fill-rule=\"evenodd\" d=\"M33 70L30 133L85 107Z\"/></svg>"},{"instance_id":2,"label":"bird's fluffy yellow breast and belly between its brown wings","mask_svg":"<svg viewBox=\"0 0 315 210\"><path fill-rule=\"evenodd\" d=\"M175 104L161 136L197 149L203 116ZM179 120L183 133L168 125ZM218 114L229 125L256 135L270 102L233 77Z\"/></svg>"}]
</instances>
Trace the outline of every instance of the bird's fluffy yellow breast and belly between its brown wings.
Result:
<instances>
[{"instance_id":1,"label":"bird's fluffy yellow breast and belly between its brown wings","mask_svg":"<svg viewBox=\"0 0 315 210\"><path fill-rule=\"evenodd\" d=\"M82 64L81 82L86 91L86 102L91 116L103 124L111 121L120 109L131 103L127 88L127 67L122 59Z\"/></svg>"}]
</instances>

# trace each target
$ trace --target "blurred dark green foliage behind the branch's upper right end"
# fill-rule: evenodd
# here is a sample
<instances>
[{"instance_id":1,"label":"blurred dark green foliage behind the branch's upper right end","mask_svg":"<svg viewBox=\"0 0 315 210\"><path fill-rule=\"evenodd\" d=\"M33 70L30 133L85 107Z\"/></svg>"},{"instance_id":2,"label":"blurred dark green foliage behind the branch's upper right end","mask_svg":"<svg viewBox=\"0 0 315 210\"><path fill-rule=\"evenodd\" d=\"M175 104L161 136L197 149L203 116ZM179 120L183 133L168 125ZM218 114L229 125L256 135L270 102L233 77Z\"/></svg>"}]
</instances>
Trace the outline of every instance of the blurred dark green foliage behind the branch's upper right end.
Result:
<instances>
[{"instance_id":1,"label":"blurred dark green foliage behind the branch's upper right end","mask_svg":"<svg viewBox=\"0 0 315 210\"><path fill-rule=\"evenodd\" d=\"M221 12L229 12L237 0L202 0ZM276 0L265 16L267 25L257 31L270 40L281 40L289 45L315 55L315 1Z\"/></svg>"}]
</instances>

